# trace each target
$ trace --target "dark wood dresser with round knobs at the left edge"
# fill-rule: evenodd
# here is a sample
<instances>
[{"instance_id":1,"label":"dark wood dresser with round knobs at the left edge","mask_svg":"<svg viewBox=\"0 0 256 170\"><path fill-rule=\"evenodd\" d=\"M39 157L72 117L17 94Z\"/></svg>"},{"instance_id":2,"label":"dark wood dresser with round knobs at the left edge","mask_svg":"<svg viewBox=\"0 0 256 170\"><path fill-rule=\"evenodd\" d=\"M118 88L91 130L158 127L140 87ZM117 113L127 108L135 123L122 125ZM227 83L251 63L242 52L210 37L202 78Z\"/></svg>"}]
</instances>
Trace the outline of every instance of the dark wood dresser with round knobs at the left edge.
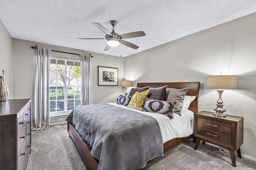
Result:
<instances>
[{"instance_id":1,"label":"dark wood dresser with round knobs at the left edge","mask_svg":"<svg viewBox=\"0 0 256 170\"><path fill-rule=\"evenodd\" d=\"M25 170L31 150L30 99L0 102L0 170Z\"/></svg>"}]
</instances>

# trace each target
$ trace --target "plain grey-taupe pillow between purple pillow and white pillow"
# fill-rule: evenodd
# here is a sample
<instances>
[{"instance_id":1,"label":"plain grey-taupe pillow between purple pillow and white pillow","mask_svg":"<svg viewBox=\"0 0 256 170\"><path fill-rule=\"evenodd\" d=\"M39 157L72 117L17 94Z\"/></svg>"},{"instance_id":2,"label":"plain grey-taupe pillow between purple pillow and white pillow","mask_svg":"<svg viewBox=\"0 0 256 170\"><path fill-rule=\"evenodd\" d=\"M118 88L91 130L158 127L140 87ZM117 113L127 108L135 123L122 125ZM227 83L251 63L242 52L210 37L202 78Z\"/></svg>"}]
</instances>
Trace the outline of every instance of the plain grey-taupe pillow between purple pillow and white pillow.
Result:
<instances>
[{"instance_id":1,"label":"plain grey-taupe pillow between purple pillow and white pillow","mask_svg":"<svg viewBox=\"0 0 256 170\"><path fill-rule=\"evenodd\" d=\"M181 116L180 109L182 106L182 102L188 90L189 88L182 88L182 89L166 88L166 100L169 102L177 101L177 104L174 109L174 113L177 113L180 116Z\"/></svg>"}]
</instances>

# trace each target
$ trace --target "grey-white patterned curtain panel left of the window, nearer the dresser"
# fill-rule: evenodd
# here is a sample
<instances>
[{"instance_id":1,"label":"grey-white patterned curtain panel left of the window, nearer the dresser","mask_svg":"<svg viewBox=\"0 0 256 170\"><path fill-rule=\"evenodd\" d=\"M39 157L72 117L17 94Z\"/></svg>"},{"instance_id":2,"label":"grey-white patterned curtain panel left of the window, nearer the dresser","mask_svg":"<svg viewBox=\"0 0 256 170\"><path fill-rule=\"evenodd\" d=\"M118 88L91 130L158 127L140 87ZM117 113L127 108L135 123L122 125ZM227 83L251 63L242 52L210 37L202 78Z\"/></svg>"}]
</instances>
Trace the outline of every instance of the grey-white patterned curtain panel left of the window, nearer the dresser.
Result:
<instances>
[{"instance_id":1,"label":"grey-white patterned curtain panel left of the window, nearer the dresser","mask_svg":"<svg viewBox=\"0 0 256 170\"><path fill-rule=\"evenodd\" d=\"M35 49L34 115L32 130L43 130L50 125L49 68L51 50Z\"/></svg>"}]
</instances>

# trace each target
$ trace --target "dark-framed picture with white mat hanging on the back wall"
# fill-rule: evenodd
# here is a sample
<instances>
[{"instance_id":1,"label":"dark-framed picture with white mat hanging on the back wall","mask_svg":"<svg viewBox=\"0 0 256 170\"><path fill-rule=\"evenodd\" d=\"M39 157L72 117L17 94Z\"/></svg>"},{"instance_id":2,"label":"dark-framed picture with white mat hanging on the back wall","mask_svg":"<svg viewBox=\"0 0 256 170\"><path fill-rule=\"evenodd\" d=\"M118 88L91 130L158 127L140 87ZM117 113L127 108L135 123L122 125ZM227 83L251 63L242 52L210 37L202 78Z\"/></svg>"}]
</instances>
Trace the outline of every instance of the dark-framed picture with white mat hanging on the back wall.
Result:
<instances>
[{"instance_id":1,"label":"dark-framed picture with white mat hanging on the back wall","mask_svg":"<svg viewBox=\"0 0 256 170\"><path fill-rule=\"evenodd\" d=\"M98 85L118 85L118 68L98 66Z\"/></svg>"}]
</instances>

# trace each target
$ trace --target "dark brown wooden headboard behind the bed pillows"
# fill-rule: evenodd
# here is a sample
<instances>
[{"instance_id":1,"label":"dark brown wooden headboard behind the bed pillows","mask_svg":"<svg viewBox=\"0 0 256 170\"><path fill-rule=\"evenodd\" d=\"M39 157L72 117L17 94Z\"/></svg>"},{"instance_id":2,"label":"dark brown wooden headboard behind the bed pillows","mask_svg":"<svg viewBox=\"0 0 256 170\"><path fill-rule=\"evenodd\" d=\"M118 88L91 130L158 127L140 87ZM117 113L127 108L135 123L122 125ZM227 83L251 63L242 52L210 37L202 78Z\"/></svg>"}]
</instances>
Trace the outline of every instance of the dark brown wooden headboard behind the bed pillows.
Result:
<instances>
[{"instance_id":1,"label":"dark brown wooden headboard behind the bed pillows","mask_svg":"<svg viewBox=\"0 0 256 170\"><path fill-rule=\"evenodd\" d=\"M138 82L137 87L142 88L150 85L151 88L158 88L167 85L167 88L189 88L187 96L195 96L195 100L190 104L189 110L198 112L198 95L200 82Z\"/></svg>"}]
</instances>

